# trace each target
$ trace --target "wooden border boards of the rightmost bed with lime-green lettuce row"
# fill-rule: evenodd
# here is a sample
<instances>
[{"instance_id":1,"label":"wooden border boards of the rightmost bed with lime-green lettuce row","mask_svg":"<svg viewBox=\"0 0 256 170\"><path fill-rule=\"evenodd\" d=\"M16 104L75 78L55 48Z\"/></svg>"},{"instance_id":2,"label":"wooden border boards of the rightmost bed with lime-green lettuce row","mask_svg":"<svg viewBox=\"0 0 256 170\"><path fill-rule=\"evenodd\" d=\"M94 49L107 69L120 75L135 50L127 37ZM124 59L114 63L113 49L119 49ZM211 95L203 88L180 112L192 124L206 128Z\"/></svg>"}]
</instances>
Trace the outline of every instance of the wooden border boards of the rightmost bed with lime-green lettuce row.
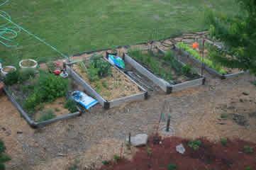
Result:
<instances>
[{"instance_id":1,"label":"wooden border boards of the rightmost bed with lime-green lettuce row","mask_svg":"<svg viewBox=\"0 0 256 170\"><path fill-rule=\"evenodd\" d=\"M211 40L206 40L207 42L209 42L212 45L216 45L214 42L212 42ZM216 47L221 48L220 46L216 45ZM204 69L206 69L209 73L216 75L217 77L220 77L221 79L226 79L228 77L233 77L233 76L237 76L239 74L244 74L246 72L241 71L241 72L236 72L236 73L231 73L231 74L221 74L219 72L217 72L215 69L212 69L210 67L208 67L206 64L203 64L201 61L197 60L195 57L192 57L191 55L189 55L188 52L180 49L177 45L175 45L175 50L177 50L178 52L182 53L182 55L187 56L188 58L191 58L192 60L194 60L195 62L201 64L204 66Z\"/></svg>"}]
</instances>

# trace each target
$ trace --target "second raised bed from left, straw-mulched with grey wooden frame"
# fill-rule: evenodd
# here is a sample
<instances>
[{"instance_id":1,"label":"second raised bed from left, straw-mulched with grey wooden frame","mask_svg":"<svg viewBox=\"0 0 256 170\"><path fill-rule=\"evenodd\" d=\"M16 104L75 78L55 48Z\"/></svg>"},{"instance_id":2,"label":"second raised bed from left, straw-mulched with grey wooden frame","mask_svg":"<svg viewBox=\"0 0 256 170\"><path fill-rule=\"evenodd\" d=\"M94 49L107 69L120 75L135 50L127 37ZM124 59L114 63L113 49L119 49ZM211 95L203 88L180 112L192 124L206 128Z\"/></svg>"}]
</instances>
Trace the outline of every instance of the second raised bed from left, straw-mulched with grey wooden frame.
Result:
<instances>
[{"instance_id":1,"label":"second raised bed from left, straw-mulched with grey wooden frame","mask_svg":"<svg viewBox=\"0 0 256 170\"><path fill-rule=\"evenodd\" d=\"M81 62L68 63L67 73L77 81L77 84L90 96L94 97L104 108L113 108L121 103L138 101L147 98L148 92L142 86L136 84L117 67L112 66L103 57L97 58L96 55ZM99 60L100 59L100 60ZM92 61L93 60L93 61ZM94 70L101 70L97 66L91 66L90 63L104 63L103 67L108 68L100 74L94 74ZM88 69L84 69L84 66ZM97 68L96 68L97 67Z\"/></svg>"}]
</instances>

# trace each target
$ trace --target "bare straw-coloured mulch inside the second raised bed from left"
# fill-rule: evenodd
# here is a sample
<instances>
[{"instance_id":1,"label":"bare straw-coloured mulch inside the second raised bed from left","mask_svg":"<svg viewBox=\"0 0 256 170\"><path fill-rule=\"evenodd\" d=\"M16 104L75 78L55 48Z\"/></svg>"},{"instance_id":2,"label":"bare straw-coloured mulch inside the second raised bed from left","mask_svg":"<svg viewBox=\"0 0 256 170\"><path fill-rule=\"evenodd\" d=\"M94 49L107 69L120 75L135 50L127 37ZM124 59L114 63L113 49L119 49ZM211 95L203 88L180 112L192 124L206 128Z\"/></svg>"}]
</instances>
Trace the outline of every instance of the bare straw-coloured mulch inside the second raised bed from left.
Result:
<instances>
[{"instance_id":1,"label":"bare straw-coloured mulch inside the second raised bed from left","mask_svg":"<svg viewBox=\"0 0 256 170\"><path fill-rule=\"evenodd\" d=\"M101 86L100 90L97 90L97 84L89 81L87 72L81 72L81 69L79 69L77 64L75 64L72 69L74 69L74 72L77 72L77 74L79 74L80 77L82 77L82 79L84 79L84 81L86 81L94 90L96 89L97 93L107 101L143 93L133 81L130 81L130 79L121 72L118 72L115 67L111 67L111 76L103 77L97 81L98 84L102 84L103 82L106 83L107 88Z\"/></svg>"}]
</instances>

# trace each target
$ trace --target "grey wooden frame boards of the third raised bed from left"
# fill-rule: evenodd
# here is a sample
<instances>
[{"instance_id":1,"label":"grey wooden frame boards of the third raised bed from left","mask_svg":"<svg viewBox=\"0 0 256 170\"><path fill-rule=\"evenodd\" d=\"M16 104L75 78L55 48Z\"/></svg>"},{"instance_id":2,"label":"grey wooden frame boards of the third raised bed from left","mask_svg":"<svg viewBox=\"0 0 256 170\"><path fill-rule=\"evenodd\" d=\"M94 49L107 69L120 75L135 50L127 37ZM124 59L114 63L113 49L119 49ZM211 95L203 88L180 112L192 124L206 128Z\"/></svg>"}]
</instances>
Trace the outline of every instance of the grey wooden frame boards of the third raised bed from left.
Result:
<instances>
[{"instance_id":1,"label":"grey wooden frame boards of the third raised bed from left","mask_svg":"<svg viewBox=\"0 0 256 170\"><path fill-rule=\"evenodd\" d=\"M160 47L157 47L157 50L160 52L163 52L165 54L165 51L160 49ZM167 81L164 79L161 79L160 77L157 77L155 74L150 72L148 69L143 67L141 64L133 60L132 57L127 55L126 53L123 53L123 60L125 62L128 62L134 69L136 69L140 74L143 74L143 76L148 77L154 84L157 86L160 86L160 88L165 91L166 94L171 94L172 91L181 91L183 89L187 89L193 86L199 86L199 85L204 85L205 78L201 77L199 79L194 79L191 81L186 81L182 84L169 84ZM183 62L177 60L180 64L185 65Z\"/></svg>"}]
</instances>

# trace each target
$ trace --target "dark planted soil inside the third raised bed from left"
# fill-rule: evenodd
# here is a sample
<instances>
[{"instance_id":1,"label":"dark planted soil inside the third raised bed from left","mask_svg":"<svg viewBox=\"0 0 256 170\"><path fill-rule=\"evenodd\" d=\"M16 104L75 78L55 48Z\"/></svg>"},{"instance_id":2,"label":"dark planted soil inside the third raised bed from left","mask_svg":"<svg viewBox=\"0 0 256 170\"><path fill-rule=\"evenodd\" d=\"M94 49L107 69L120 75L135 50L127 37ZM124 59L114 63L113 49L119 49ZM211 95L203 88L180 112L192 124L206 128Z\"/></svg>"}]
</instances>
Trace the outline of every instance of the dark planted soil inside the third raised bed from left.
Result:
<instances>
[{"instance_id":1,"label":"dark planted soil inside the third raised bed from left","mask_svg":"<svg viewBox=\"0 0 256 170\"><path fill-rule=\"evenodd\" d=\"M137 53L137 51L136 51ZM140 63L143 67L148 69L152 74L165 79L169 84L181 84L186 81L191 81L194 79L199 79L199 74L194 72L189 72L189 74L182 74L182 64L176 62L176 68L172 67L172 64L164 60L161 52L157 50L142 51L142 54L136 54L135 52L128 52L130 57Z\"/></svg>"}]
</instances>

